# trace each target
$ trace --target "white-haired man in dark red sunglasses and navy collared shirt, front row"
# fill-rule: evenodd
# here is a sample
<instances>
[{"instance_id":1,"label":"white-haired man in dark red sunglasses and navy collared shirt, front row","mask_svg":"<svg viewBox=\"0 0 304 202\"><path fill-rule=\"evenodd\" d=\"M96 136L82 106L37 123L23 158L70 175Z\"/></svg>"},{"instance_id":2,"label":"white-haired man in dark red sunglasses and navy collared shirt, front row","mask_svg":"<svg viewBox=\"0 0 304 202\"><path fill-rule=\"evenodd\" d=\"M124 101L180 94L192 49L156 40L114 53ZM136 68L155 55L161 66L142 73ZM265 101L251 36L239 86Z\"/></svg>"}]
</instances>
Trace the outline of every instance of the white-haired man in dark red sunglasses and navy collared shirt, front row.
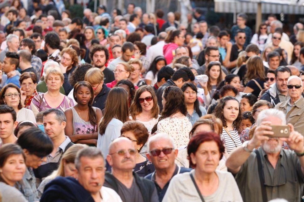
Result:
<instances>
[{"instance_id":1,"label":"white-haired man in dark red sunglasses and navy collared shirt, front row","mask_svg":"<svg viewBox=\"0 0 304 202\"><path fill-rule=\"evenodd\" d=\"M153 163L155 171L145 178L154 182L160 202L166 194L171 179L177 174L191 171L190 168L175 164L177 152L173 139L167 134L157 134L148 140L148 153L146 155Z\"/></svg>"}]
</instances>

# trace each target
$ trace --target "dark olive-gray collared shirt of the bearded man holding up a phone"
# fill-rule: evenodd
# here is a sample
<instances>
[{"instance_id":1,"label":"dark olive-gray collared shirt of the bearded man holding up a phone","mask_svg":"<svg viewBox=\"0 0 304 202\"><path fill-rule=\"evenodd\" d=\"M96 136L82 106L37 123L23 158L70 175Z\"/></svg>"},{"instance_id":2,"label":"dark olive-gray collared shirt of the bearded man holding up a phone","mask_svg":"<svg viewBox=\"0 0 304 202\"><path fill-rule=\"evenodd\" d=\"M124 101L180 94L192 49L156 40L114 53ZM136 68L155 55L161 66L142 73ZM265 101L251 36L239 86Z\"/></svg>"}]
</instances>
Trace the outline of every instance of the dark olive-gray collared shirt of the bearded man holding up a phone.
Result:
<instances>
[{"instance_id":1,"label":"dark olive-gray collared shirt of the bearded man holding up a phone","mask_svg":"<svg viewBox=\"0 0 304 202\"><path fill-rule=\"evenodd\" d=\"M267 154L260 147L262 170L267 199L283 198L287 201L300 201L304 185L299 157L291 150L281 149L278 162L274 167ZM258 174L258 162L255 152L251 152L241 169L236 173L236 183L243 201L262 201L262 191Z\"/></svg>"}]
</instances>

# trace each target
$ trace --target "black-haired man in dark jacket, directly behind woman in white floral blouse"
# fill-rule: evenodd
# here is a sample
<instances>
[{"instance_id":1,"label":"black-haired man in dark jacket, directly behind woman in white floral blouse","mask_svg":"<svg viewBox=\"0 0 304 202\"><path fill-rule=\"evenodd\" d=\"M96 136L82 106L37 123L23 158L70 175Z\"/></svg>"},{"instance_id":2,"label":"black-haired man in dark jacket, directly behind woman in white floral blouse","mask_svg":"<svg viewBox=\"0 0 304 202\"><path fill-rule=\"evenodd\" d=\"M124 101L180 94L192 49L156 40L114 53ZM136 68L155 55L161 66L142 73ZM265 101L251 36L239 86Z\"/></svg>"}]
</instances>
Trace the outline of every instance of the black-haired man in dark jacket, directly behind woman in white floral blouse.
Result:
<instances>
[{"instance_id":1,"label":"black-haired man in dark jacket, directly behind woman in white floral blouse","mask_svg":"<svg viewBox=\"0 0 304 202\"><path fill-rule=\"evenodd\" d=\"M164 90L168 86L176 85L178 88L182 88L182 86L190 81L194 81L195 77L192 71L188 67L182 67L174 74L172 75L171 79L168 79L166 83L164 83L162 86L160 86L156 92L157 96L157 103L160 107L160 111L163 109L163 105L161 103L162 101L162 95Z\"/></svg>"}]
</instances>

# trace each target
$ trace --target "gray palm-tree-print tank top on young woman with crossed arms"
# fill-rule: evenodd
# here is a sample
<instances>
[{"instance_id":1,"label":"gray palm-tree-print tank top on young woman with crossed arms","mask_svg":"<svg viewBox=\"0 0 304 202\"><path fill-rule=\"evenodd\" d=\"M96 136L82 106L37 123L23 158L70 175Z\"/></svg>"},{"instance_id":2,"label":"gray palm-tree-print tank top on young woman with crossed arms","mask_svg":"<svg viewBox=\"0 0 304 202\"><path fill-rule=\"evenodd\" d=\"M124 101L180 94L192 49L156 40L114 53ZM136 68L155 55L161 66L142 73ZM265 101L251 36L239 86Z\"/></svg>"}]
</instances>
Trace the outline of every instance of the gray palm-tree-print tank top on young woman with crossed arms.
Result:
<instances>
[{"instance_id":1,"label":"gray palm-tree-print tank top on young woman with crossed arms","mask_svg":"<svg viewBox=\"0 0 304 202\"><path fill-rule=\"evenodd\" d=\"M75 107L71 107L73 112L73 134L90 134L97 131L97 124L94 126L90 121L84 121L80 118ZM93 107L96 114L96 107ZM95 130L94 130L95 129Z\"/></svg>"}]
</instances>

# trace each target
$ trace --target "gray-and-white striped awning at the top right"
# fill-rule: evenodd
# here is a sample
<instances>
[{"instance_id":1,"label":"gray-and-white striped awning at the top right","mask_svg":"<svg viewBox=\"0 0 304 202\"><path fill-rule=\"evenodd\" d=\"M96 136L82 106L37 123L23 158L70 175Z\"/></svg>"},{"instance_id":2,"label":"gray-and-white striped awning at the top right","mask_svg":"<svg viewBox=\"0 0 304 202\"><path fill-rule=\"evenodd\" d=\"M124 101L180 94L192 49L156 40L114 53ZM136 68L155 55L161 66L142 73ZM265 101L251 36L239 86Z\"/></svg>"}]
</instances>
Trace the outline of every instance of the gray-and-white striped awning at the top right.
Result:
<instances>
[{"instance_id":1,"label":"gray-and-white striped awning at the top right","mask_svg":"<svg viewBox=\"0 0 304 202\"><path fill-rule=\"evenodd\" d=\"M262 13L304 13L304 0L214 0L214 10L217 13L257 13L258 3L262 3Z\"/></svg>"}]
</instances>

